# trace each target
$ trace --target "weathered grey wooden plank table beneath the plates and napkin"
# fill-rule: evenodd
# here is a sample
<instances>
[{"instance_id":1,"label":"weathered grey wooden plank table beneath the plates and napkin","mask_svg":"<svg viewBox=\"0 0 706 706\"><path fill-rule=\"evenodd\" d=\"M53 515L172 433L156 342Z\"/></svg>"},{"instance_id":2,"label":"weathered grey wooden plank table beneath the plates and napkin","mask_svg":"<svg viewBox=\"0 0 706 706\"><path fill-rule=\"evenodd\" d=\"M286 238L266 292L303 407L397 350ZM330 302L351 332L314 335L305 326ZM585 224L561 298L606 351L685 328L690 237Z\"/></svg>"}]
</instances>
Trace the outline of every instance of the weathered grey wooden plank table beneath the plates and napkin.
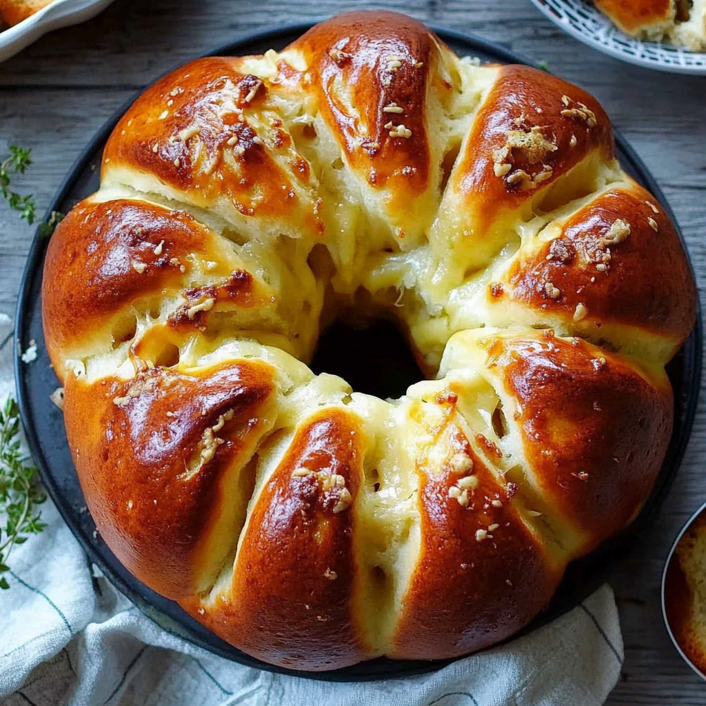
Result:
<instances>
[{"instance_id":1,"label":"weathered grey wooden plank table beneath the plates and napkin","mask_svg":"<svg viewBox=\"0 0 706 706\"><path fill-rule=\"evenodd\" d=\"M602 100L669 198L706 283L706 78L621 64L570 39L527 0L386 0L376 4L505 44ZM241 32L364 2L116 0L89 23L44 37L0 66L0 140L32 148L18 184L46 207L86 141L133 92L168 68ZM32 229L0 208L0 311L12 314ZM681 661L662 624L659 582L669 546L706 500L706 397L686 459L654 529L616 571L626 660L608 704L706 704L706 684ZM580 706L580 705L567 705Z\"/></svg>"}]
</instances>

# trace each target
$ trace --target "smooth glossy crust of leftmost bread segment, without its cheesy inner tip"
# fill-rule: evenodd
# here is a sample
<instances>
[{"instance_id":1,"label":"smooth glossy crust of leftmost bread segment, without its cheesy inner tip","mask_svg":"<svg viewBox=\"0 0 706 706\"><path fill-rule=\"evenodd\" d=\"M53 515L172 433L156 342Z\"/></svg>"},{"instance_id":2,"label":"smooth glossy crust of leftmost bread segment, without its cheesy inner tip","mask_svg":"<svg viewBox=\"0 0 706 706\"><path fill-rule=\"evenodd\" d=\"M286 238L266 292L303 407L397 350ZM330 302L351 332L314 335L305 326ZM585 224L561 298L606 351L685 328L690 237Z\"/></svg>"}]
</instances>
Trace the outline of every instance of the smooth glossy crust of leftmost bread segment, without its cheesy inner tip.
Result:
<instances>
[{"instance_id":1,"label":"smooth glossy crust of leftmost bread segment, without its cheesy inner tip","mask_svg":"<svg viewBox=\"0 0 706 706\"><path fill-rule=\"evenodd\" d=\"M208 229L192 215L144 201L83 201L49 241L42 282L44 330L57 369L69 342L164 287L179 287ZM160 246L161 244L161 246ZM159 253L159 254L157 254ZM181 268L184 268L182 273Z\"/></svg>"}]
</instances>

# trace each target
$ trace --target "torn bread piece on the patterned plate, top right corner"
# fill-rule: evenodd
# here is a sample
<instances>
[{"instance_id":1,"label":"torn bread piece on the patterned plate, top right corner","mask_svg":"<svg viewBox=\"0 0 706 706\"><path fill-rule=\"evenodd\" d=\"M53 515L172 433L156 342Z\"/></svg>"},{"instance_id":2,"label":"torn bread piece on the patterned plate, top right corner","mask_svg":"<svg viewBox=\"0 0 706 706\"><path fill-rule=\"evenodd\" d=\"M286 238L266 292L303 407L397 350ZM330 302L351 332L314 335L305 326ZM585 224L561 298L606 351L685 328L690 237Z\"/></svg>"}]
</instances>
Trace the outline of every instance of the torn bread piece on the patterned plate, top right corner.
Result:
<instances>
[{"instance_id":1,"label":"torn bread piece on the patterned plate, top right corner","mask_svg":"<svg viewBox=\"0 0 706 706\"><path fill-rule=\"evenodd\" d=\"M594 0L632 37L666 40L706 52L706 0Z\"/></svg>"}]
</instances>

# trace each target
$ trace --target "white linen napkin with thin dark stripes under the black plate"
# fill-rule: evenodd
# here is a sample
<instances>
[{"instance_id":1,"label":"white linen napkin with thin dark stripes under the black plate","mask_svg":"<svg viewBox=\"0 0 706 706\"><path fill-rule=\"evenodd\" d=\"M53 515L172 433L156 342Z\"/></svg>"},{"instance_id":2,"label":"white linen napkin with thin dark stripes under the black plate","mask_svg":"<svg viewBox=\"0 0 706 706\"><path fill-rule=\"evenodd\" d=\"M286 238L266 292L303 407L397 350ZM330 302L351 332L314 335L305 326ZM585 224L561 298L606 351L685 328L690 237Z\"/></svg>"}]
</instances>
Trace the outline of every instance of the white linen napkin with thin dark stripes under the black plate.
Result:
<instances>
[{"instance_id":1,"label":"white linen napkin with thin dark stripes under the black plate","mask_svg":"<svg viewBox=\"0 0 706 706\"><path fill-rule=\"evenodd\" d=\"M13 364L34 364L10 332L0 315L0 402ZM51 501L42 519L0 592L5 706L599 706L620 674L607 585L530 635L424 676L328 683L251 669L164 632L90 566Z\"/></svg>"}]
</instances>

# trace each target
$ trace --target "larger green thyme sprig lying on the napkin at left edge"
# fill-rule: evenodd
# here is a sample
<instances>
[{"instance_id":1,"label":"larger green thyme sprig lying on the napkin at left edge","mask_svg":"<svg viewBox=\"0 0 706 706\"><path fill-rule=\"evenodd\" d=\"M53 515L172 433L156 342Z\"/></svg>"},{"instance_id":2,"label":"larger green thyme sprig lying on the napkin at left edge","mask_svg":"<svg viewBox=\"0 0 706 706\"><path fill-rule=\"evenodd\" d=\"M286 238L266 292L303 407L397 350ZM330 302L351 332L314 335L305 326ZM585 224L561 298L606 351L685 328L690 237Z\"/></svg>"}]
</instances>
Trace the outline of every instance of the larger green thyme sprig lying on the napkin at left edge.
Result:
<instances>
[{"instance_id":1,"label":"larger green thyme sprig lying on the napkin at left edge","mask_svg":"<svg viewBox=\"0 0 706 706\"><path fill-rule=\"evenodd\" d=\"M38 534L47 525L41 521L37 505L47 496L37 479L37 467L28 464L20 450L20 410L8 397L0 410L0 589L9 588L4 573L10 570L8 558L13 546L23 544L30 534Z\"/></svg>"}]
</instances>

